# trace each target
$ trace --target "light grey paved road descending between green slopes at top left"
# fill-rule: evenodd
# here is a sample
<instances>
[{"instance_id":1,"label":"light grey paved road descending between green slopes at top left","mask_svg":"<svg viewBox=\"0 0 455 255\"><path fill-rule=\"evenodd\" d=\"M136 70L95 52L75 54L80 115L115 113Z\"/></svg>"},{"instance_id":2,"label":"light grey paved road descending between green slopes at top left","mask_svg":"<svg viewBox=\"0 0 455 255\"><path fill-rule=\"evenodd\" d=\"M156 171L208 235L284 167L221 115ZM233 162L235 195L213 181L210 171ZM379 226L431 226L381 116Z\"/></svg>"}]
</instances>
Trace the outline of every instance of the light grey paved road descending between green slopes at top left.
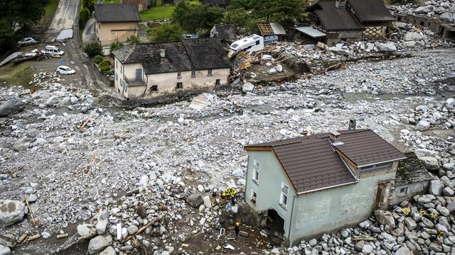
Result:
<instances>
[{"instance_id":1,"label":"light grey paved road descending between green slopes at top left","mask_svg":"<svg viewBox=\"0 0 455 255\"><path fill-rule=\"evenodd\" d=\"M60 33L60 30L73 28L78 9L78 0L60 0L48 33Z\"/></svg>"}]
</instances>

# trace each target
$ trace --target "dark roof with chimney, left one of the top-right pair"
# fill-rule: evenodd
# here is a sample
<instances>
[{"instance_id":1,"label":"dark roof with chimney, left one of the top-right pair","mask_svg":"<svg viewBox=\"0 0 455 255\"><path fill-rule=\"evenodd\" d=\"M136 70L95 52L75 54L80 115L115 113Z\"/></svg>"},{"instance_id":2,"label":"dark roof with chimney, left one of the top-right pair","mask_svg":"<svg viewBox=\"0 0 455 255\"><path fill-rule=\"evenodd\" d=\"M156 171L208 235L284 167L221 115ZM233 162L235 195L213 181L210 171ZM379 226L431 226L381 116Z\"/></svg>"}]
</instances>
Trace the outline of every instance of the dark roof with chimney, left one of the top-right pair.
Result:
<instances>
[{"instance_id":1,"label":"dark roof with chimney, left one of the top-right pair","mask_svg":"<svg viewBox=\"0 0 455 255\"><path fill-rule=\"evenodd\" d=\"M337 9L335 1L319 1L307 8L314 11L326 30L363 30L365 28L358 18L355 18L347 9Z\"/></svg>"}]
</instances>

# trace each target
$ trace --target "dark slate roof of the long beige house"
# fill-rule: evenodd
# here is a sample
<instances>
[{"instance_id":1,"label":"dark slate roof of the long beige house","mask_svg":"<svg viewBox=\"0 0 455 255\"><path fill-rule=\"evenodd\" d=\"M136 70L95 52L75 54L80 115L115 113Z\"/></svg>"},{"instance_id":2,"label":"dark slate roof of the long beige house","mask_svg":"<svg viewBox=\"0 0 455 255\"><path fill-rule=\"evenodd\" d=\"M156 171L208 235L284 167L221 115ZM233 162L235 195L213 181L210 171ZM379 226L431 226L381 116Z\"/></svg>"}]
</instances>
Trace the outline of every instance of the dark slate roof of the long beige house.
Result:
<instances>
[{"instance_id":1,"label":"dark slate roof of the long beige house","mask_svg":"<svg viewBox=\"0 0 455 255\"><path fill-rule=\"evenodd\" d=\"M166 51L164 59L161 49ZM141 63L145 74L230 68L227 53L215 39L125 45L112 53L123 64Z\"/></svg>"}]
</instances>

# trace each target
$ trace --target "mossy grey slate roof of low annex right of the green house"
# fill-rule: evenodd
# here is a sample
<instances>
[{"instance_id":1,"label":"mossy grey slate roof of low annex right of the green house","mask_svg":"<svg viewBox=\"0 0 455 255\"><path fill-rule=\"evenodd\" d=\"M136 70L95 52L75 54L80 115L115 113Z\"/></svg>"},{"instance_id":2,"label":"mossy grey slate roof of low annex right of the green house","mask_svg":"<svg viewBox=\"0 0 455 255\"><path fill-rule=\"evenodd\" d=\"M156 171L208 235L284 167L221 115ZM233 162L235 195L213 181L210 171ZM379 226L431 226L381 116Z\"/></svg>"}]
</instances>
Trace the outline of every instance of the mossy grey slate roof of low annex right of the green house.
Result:
<instances>
[{"instance_id":1,"label":"mossy grey slate roof of low annex right of the green house","mask_svg":"<svg viewBox=\"0 0 455 255\"><path fill-rule=\"evenodd\" d=\"M408 152L406 156L407 159L398 162L397 174L395 175L395 186L433 179L433 176L425 169L424 164L422 164L414 152Z\"/></svg>"}]
</instances>

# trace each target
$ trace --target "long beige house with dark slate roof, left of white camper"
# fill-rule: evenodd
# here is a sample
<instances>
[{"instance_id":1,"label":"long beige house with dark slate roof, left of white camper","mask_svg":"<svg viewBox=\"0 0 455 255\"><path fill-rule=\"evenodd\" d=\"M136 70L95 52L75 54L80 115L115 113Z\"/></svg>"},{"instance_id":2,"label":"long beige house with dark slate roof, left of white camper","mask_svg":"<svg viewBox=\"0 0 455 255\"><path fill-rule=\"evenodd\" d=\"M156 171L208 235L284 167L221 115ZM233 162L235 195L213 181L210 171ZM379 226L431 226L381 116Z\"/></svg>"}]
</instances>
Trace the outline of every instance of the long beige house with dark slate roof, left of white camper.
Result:
<instances>
[{"instance_id":1,"label":"long beige house with dark slate roof, left of white camper","mask_svg":"<svg viewBox=\"0 0 455 255\"><path fill-rule=\"evenodd\" d=\"M114 89L124 98L194 94L228 83L230 61L215 39L126 45L114 54Z\"/></svg>"}]
</instances>

